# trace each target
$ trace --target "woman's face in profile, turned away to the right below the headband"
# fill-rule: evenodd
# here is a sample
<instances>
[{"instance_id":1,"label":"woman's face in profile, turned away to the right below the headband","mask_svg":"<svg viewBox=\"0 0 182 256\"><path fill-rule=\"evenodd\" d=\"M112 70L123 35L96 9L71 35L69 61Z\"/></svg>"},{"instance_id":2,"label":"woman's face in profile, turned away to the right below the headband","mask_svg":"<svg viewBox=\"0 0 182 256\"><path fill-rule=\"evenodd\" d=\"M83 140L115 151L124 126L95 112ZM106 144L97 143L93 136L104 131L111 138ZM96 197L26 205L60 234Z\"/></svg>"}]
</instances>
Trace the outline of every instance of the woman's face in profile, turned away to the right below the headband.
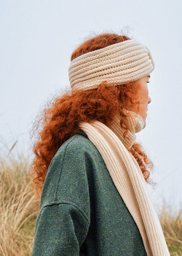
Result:
<instances>
[{"instance_id":1,"label":"woman's face in profile, turned away to the right below the headband","mask_svg":"<svg viewBox=\"0 0 182 256\"><path fill-rule=\"evenodd\" d=\"M138 113L144 121L144 127L146 126L146 117L148 104L151 102L151 98L149 97L149 91L147 83L149 82L150 75L146 75L145 77L137 80L139 82L139 90L137 94L134 96L134 101L139 102L140 104L129 104L126 109L132 112ZM143 127L143 128L144 128Z\"/></svg>"}]
</instances>

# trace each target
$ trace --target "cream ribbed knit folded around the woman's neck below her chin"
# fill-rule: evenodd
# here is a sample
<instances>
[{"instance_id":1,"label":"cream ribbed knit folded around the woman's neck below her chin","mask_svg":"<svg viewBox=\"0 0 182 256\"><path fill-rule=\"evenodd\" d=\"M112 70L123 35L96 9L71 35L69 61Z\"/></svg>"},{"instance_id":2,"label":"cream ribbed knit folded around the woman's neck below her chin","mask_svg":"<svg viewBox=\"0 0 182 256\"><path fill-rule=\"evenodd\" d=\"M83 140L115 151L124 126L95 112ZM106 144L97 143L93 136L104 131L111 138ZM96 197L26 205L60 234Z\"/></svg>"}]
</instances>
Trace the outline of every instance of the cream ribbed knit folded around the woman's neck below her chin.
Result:
<instances>
[{"instance_id":1,"label":"cream ribbed knit folded around the woman's neck below her chin","mask_svg":"<svg viewBox=\"0 0 182 256\"><path fill-rule=\"evenodd\" d=\"M120 125L121 117L120 115L115 115L113 122L109 125L109 128L115 133L115 135L121 140L126 149L130 149L136 140L136 132L139 132L143 129L144 123L143 119L137 113L124 110L127 118L124 122L124 125L128 128L127 133L126 129L122 128Z\"/></svg>"}]
</instances>

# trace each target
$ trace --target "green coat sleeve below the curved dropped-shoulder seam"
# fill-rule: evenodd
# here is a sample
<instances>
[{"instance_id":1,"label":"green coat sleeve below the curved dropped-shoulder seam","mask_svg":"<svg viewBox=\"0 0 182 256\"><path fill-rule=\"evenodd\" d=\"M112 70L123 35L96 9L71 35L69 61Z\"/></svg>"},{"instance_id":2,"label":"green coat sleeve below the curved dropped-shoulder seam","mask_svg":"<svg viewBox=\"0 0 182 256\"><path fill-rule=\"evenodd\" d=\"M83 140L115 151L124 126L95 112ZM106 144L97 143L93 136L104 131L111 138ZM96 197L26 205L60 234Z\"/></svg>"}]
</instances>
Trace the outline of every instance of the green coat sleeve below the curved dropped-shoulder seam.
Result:
<instances>
[{"instance_id":1,"label":"green coat sleeve below the curved dropped-shoulder seam","mask_svg":"<svg viewBox=\"0 0 182 256\"><path fill-rule=\"evenodd\" d=\"M45 206L39 213L32 256L77 256L89 223L71 202Z\"/></svg>"}]
</instances>

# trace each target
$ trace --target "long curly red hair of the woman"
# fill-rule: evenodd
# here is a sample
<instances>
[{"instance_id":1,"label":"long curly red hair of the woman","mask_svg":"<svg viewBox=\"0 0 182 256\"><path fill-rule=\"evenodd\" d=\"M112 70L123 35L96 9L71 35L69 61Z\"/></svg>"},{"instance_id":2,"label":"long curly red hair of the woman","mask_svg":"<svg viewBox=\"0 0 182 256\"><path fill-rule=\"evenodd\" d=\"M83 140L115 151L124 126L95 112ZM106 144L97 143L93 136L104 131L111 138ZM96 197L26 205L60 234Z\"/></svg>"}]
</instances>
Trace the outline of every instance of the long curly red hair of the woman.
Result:
<instances>
[{"instance_id":1,"label":"long curly red hair of the woman","mask_svg":"<svg viewBox=\"0 0 182 256\"><path fill-rule=\"evenodd\" d=\"M96 36L79 46L73 52L71 60L90 51L129 39L126 36L116 34ZM129 103L137 104L133 99L137 90L137 82L129 82L119 86L107 86L107 82L102 82L98 89L80 91L76 94L67 91L61 97L57 97L51 106L44 109L36 126L38 139L33 147L35 156L31 164L31 177L38 194L42 190L48 166L55 153L66 140L79 130L81 121L98 120L109 125L113 116L119 113L121 116L120 124L126 129L125 136L127 136L127 127L124 126L126 115L122 110ZM41 121L43 126L40 130ZM152 162L141 150L138 143L134 143L129 151L137 160L145 181L149 183L150 170L153 168Z\"/></svg>"}]
</instances>

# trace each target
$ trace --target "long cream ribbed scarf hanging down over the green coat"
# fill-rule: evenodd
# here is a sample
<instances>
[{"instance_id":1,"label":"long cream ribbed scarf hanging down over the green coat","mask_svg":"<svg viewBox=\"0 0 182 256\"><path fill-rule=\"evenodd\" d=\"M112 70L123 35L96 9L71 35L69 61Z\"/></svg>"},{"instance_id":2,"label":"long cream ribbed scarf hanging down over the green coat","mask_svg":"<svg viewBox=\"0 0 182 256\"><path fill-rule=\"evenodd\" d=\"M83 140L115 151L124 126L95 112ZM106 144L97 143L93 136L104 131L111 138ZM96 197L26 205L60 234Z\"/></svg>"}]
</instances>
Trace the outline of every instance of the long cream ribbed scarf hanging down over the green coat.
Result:
<instances>
[{"instance_id":1,"label":"long cream ribbed scarf hanging down over the green coat","mask_svg":"<svg viewBox=\"0 0 182 256\"><path fill-rule=\"evenodd\" d=\"M135 127L142 127L141 118L135 119L134 122L130 122L130 125L134 126L130 129L133 132L142 129L135 129ZM118 126L118 120L111 125L113 131L99 121L80 124L80 128L100 152L118 192L134 218L147 255L170 256L143 174L134 156L116 136L116 126ZM119 129L117 127L117 132Z\"/></svg>"}]
</instances>

